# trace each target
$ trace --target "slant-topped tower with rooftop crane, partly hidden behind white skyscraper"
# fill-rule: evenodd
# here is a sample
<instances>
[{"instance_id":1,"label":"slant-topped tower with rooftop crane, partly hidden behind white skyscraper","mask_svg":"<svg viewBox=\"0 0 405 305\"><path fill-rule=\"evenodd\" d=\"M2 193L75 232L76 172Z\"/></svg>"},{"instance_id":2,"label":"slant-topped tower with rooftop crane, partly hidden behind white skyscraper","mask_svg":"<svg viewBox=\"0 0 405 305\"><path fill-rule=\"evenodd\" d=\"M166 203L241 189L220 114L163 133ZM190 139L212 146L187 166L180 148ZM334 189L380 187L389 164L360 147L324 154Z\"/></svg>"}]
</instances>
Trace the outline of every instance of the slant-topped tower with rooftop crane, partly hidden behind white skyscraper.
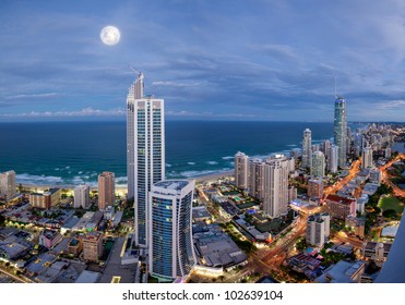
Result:
<instances>
[{"instance_id":1,"label":"slant-topped tower with rooftop crane, partly hidden behind white skyscraper","mask_svg":"<svg viewBox=\"0 0 405 305\"><path fill-rule=\"evenodd\" d=\"M128 198L133 198L135 191L135 126L134 100L143 98L143 74L140 73L138 78L131 85L127 96L127 176L128 176Z\"/></svg>"}]
</instances>

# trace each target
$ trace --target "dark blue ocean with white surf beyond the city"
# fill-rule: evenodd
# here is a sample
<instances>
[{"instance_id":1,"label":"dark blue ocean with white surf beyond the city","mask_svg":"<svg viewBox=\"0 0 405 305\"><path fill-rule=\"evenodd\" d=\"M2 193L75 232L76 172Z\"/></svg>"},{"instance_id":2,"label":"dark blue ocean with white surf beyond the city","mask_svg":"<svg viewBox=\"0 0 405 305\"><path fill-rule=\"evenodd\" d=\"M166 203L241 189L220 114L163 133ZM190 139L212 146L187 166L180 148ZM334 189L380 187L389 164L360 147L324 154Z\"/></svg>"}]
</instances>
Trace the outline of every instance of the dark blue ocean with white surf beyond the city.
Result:
<instances>
[{"instance_id":1,"label":"dark blue ocean with white surf beyond the city","mask_svg":"<svg viewBox=\"0 0 405 305\"><path fill-rule=\"evenodd\" d=\"M253 157L300 148L333 136L333 123L166 122L166 176L190 178L233 169L240 150ZM0 123L0 172L15 170L17 183L95 184L102 171L126 178L126 122Z\"/></svg>"}]
</instances>

